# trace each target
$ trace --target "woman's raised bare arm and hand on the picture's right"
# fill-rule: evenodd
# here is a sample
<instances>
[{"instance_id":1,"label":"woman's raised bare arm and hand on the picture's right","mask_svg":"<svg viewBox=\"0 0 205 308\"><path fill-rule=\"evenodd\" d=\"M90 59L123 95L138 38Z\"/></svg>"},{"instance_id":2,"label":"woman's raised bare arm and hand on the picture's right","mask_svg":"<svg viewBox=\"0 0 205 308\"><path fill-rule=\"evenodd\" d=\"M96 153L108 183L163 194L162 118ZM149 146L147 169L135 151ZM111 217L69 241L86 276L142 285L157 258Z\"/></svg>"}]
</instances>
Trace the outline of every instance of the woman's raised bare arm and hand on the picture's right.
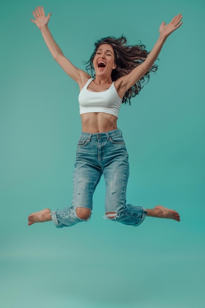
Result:
<instances>
[{"instance_id":1,"label":"woman's raised bare arm and hand on the picture's right","mask_svg":"<svg viewBox=\"0 0 205 308\"><path fill-rule=\"evenodd\" d=\"M167 37L182 25L181 19L181 14L178 14L169 24L165 25L165 22L161 24L161 26L159 27L159 38L150 53L148 54L146 60L142 64L134 68L128 75L120 77L117 82L115 82L115 85L116 83L118 84L117 92L119 96L120 94L124 94L128 89L130 89L138 80L140 80L146 74L149 69L151 69L152 65L159 56L159 53Z\"/></svg>"}]
</instances>

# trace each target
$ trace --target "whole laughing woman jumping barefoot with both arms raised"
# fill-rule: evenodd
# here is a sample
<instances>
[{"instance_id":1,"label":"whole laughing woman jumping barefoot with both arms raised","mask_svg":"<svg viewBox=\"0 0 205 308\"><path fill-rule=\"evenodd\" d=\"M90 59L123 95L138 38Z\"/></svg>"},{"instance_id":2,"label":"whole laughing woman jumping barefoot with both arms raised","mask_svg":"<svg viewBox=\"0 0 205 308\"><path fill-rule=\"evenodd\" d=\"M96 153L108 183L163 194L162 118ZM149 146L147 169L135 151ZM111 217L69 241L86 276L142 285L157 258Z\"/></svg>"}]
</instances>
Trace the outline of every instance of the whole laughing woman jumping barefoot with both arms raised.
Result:
<instances>
[{"instance_id":1,"label":"whole laughing woman jumping barefoot with both arms raised","mask_svg":"<svg viewBox=\"0 0 205 308\"><path fill-rule=\"evenodd\" d=\"M94 78L64 57L47 26L51 13L45 16L43 7L38 6L33 16L35 20L31 21L40 29L53 58L79 85L82 133L73 173L71 207L33 213L28 225L53 220L61 228L89 220L93 192L102 174L106 183L106 218L133 226L141 224L146 216L180 221L176 211L160 205L145 209L126 204L128 154L117 128L117 117L121 103L130 101L145 78L149 78L149 72L156 70L154 62L167 37L182 25L181 14L168 25L161 24L159 38L149 54L144 45L127 46L124 37L99 40L89 61Z\"/></svg>"}]
</instances>

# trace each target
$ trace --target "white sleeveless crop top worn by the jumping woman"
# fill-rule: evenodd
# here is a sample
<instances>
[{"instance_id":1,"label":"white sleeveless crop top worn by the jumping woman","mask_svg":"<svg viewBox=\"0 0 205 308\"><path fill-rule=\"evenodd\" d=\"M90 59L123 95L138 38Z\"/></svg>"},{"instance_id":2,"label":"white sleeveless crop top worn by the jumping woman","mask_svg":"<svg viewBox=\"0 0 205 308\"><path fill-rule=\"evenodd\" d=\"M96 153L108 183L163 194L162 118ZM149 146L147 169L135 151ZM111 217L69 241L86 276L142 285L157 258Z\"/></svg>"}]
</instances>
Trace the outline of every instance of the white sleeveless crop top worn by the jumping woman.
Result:
<instances>
[{"instance_id":1,"label":"white sleeveless crop top worn by the jumping woman","mask_svg":"<svg viewBox=\"0 0 205 308\"><path fill-rule=\"evenodd\" d=\"M92 80L93 78L88 80L78 96L80 115L88 112L104 112L118 118L122 99L117 94L114 82L106 91L91 92L87 88Z\"/></svg>"}]
</instances>

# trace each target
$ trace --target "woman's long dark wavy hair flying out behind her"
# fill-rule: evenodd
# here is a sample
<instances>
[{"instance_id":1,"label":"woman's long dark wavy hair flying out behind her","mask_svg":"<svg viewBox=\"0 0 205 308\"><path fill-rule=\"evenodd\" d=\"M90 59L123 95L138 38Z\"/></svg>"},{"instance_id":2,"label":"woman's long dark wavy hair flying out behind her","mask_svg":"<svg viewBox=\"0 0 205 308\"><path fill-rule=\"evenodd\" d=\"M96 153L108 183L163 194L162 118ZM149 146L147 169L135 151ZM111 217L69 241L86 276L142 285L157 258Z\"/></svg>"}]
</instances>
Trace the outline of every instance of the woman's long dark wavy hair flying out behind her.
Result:
<instances>
[{"instance_id":1,"label":"woman's long dark wavy hair flying out behind her","mask_svg":"<svg viewBox=\"0 0 205 308\"><path fill-rule=\"evenodd\" d=\"M141 44L141 42L139 45L128 45L127 39L123 35L118 38L114 36L101 38L94 44L94 52L88 62L85 62L88 64L86 69L91 72L93 78L95 77L93 59L99 46L102 44L109 44L114 49L116 68L113 69L111 73L112 81L116 81L119 77L129 74L136 66L144 62L148 56L145 45ZM122 103L126 104L126 102L128 102L130 104L130 99L139 94L140 90L143 88L142 84L149 81L149 73L156 72L156 70L157 65L153 64L151 69L124 93Z\"/></svg>"}]
</instances>

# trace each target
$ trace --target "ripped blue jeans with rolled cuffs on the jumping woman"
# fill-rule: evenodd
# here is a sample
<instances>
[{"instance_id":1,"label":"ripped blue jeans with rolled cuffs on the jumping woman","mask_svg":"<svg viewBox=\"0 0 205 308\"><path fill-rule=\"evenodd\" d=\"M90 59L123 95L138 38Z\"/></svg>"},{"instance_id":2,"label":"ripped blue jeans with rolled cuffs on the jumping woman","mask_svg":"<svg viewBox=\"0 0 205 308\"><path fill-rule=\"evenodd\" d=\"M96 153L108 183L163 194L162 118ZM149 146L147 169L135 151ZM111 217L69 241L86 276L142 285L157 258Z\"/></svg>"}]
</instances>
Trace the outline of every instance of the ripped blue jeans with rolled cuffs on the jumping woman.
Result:
<instances>
[{"instance_id":1,"label":"ripped blue jeans with rolled cuffs on the jumping woman","mask_svg":"<svg viewBox=\"0 0 205 308\"><path fill-rule=\"evenodd\" d=\"M128 153L122 133L116 129L98 134L81 133L73 172L71 207L51 212L57 228L70 227L89 220L90 217L85 220L79 218L76 209L88 208L91 213L92 196L102 174L106 184L105 218L133 226L144 221L146 209L126 204ZM110 212L115 214L109 214Z\"/></svg>"}]
</instances>

